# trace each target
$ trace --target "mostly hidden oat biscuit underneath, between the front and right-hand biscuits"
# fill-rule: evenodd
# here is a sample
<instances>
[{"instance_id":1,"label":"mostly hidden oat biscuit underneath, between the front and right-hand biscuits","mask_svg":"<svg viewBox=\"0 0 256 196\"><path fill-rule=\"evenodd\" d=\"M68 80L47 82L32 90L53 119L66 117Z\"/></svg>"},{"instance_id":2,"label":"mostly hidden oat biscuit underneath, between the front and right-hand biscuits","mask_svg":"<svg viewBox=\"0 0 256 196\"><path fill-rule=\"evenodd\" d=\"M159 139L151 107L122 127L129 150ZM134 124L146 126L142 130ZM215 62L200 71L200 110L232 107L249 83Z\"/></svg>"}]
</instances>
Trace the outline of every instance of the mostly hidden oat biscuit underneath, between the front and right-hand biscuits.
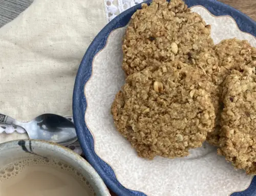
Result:
<instances>
[{"instance_id":1,"label":"mostly hidden oat biscuit underneath, between the front and right-hand biscuits","mask_svg":"<svg viewBox=\"0 0 256 196\"><path fill-rule=\"evenodd\" d=\"M222 91L222 82L231 73L232 70L241 70L241 67L256 66L256 49L250 46L247 40L226 39L215 46L215 52L219 59L217 69L212 69L212 81L218 87L217 94ZM218 97L218 95L216 97ZM222 100L216 108L216 128L214 132L207 135L207 141L215 146L219 146L220 139L220 114L222 111ZM217 111L219 110L219 111Z\"/></svg>"}]
</instances>

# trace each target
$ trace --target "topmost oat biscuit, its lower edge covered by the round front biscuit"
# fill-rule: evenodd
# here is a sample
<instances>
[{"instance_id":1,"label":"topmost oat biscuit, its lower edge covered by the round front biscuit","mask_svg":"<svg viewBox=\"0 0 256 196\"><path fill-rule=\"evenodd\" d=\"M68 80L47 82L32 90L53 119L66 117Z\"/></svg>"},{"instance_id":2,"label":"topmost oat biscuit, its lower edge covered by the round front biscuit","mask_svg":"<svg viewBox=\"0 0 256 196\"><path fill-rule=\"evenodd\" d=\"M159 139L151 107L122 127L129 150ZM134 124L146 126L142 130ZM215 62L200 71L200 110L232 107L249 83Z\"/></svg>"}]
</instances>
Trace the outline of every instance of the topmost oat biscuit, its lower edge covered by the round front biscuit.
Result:
<instances>
[{"instance_id":1,"label":"topmost oat biscuit, its lower edge covered by the round front biscuit","mask_svg":"<svg viewBox=\"0 0 256 196\"><path fill-rule=\"evenodd\" d=\"M210 51L213 48L210 26L199 14L190 12L181 0L169 4L155 0L150 6L143 4L132 16L123 39L122 68L130 75L145 69L147 59L178 60L200 64L212 73L218 61Z\"/></svg>"}]
</instances>

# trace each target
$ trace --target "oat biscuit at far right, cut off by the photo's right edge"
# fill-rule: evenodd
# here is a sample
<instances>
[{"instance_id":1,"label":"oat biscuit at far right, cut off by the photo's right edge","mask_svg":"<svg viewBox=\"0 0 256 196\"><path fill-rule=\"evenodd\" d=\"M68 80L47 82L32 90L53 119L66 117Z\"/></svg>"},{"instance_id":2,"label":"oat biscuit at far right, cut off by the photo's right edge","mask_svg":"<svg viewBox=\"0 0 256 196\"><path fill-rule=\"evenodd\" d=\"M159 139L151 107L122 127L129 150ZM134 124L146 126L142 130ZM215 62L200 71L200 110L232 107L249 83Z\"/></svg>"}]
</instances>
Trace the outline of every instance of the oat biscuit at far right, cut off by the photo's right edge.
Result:
<instances>
[{"instance_id":1,"label":"oat biscuit at far right, cut off by the photo's right edge","mask_svg":"<svg viewBox=\"0 0 256 196\"><path fill-rule=\"evenodd\" d=\"M220 148L238 169L256 174L256 76L255 68L232 71L223 83Z\"/></svg>"}]
</instances>

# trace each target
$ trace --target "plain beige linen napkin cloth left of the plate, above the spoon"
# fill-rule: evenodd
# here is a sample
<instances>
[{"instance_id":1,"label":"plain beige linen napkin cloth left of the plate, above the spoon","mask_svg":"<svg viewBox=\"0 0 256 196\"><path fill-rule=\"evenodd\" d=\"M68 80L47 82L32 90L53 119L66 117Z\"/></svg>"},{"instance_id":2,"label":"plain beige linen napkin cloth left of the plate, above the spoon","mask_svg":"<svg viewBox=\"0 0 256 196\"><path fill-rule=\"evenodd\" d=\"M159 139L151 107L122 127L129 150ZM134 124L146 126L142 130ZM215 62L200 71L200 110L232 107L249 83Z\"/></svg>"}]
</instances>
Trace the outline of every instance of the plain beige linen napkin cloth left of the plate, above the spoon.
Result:
<instances>
[{"instance_id":1,"label":"plain beige linen napkin cloth left of the plate, above the spoon","mask_svg":"<svg viewBox=\"0 0 256 196\"><path fill-rule=\"evenodd\" d=\"M104 0L35 0L2 27L0 113L20 121L72 115L79 63L106 23Z\"/></svg>"}]
</instances>

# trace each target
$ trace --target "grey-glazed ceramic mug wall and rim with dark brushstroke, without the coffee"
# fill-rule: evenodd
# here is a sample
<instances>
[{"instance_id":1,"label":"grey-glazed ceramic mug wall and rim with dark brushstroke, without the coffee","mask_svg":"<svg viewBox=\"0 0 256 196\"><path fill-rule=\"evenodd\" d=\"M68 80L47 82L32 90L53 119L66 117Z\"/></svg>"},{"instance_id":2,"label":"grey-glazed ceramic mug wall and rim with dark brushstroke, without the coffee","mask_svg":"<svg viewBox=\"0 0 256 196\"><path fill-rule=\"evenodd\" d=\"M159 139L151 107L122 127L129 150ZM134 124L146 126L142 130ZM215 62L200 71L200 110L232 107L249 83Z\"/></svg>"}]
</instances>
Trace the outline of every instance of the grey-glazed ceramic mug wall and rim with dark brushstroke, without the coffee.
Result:
<instances>
[{"instance_id":1,"label":"grey-glazed ceramic mug wall and rim with dark brushstroke, without the coffee","mask_svg":"<svg viewBox=\"0 0 256 196\"><path fill-rule=\"evenodd\" d=\"M55 158L67 163L89 181L97 196L110 196L95 169L69 148L41 140L15 140L0 144L0 168L16 160L34 156Z\"/></svg>"}]
</instances>

